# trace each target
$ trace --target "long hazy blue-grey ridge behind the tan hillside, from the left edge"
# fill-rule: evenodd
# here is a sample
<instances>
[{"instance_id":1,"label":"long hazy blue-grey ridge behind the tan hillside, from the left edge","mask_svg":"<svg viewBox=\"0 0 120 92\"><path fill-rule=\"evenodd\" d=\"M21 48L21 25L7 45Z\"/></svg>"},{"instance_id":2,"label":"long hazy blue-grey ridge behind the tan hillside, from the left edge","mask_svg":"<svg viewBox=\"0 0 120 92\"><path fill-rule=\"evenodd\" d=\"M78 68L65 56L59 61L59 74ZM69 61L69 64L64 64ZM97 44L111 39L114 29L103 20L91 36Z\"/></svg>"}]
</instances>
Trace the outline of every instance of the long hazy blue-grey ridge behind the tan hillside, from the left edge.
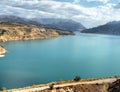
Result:
<instances>
[{"instance_id":1,"label":"long hazy blue-grey ridge behind the tan hillside, from the left edge","mask_svg":"<svg viewBox=\"0 0 120 92\"><path fill-rule=\"evenodd\" d=\"M60 18L32 18L26 19L11 15L0 15L0 20L13 21L25 24L33 24L37 26L44 26L47 28L55 28L67 31L82 31L85 27L76 21L70 19Z\"/></svg>"}]
</instances>

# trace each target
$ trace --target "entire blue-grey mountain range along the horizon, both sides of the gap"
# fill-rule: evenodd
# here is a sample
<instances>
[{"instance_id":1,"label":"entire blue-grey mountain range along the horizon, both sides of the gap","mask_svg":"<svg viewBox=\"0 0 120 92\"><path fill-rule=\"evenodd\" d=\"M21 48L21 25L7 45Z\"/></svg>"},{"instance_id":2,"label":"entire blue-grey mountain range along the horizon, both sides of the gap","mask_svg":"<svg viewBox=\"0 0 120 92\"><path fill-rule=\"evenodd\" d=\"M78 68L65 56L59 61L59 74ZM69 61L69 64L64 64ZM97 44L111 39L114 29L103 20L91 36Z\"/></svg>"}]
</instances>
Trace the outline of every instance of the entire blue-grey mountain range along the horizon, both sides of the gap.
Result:
<instances>
[{"instance_id":1,"label":"entire blue-grey mountain range along the horizon, both sides of the gap","mask_svg":"<svg viewBox=\"0 0 120 92\"><path fill-rule=\"evenodd\" d=\"M80 31L81 33L120 35L120 21L112 21L104 25L86 29L81 23L70 19L61 18L27 19L12 15L0 15L0 20L32 24L45 28L60 29L64 31Z\"/></svg>"}]
</instances>

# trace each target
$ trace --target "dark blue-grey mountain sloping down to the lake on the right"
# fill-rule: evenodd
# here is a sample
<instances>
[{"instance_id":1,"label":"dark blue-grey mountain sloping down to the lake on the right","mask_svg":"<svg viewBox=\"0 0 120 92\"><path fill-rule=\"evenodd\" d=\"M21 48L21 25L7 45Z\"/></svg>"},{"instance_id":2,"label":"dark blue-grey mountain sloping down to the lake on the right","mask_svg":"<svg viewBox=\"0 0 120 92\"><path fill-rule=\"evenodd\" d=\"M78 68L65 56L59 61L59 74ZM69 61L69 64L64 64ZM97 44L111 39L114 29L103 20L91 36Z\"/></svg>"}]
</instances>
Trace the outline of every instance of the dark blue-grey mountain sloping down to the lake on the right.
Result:
<instances>
[{"instance_id":1,"label":"dark blue-grey mountain sloping down to the lake on the right","mask_svg":"<svg viewBox=\"0 0 120 92\"><path fill-rule=\"evenodd\" d=\"M120 35L120 21L112 21L105 25L85 29L82 33L111 34Z\"/></svg>"}]
</instances>

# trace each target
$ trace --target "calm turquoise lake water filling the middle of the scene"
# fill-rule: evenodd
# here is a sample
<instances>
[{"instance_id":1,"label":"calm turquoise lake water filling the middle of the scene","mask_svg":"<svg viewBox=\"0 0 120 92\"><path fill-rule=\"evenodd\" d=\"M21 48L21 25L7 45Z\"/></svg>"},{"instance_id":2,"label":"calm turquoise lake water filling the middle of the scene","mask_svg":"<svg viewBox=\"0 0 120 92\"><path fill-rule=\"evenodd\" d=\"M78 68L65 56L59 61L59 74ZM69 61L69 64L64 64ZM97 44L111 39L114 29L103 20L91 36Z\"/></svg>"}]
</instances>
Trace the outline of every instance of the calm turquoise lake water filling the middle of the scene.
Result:
<instances>
[{"instance_id":1,"label":"calm turquoise lake water filling the middle of the scene","mask_svg":"<svg viewBox=\"0 0 120 92\"><path fill-rule=\"evenodd\" d=\"M120 75L120 36L79 34L2 43L0 87Z\"/></svg>"}]
</instances>

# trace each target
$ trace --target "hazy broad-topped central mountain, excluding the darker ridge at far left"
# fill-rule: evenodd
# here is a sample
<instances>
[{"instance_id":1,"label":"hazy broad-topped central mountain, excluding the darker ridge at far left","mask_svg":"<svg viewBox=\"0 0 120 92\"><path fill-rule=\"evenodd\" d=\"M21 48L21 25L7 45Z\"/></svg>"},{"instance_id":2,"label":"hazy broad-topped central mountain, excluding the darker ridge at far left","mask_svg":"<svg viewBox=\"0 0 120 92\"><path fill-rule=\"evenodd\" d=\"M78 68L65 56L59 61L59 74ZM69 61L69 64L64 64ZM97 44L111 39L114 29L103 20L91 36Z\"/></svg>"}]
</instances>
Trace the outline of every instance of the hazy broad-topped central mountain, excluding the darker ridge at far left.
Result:
<instances>
[{"instance_id":1,"label":"hazy broad-topped central mountain, excluding the darker ridge at far left","mask_svg":"<svg viewBox=\"0 0 120 92\"><path fill-rule=\"evenodd\" d=\"M43 26L48 28L56 28L68 31L82 31L85 27L76 21L70 19L60 19L60 18L43 18L43 19L32 19Z\"/></svg>"}]
</instances>

